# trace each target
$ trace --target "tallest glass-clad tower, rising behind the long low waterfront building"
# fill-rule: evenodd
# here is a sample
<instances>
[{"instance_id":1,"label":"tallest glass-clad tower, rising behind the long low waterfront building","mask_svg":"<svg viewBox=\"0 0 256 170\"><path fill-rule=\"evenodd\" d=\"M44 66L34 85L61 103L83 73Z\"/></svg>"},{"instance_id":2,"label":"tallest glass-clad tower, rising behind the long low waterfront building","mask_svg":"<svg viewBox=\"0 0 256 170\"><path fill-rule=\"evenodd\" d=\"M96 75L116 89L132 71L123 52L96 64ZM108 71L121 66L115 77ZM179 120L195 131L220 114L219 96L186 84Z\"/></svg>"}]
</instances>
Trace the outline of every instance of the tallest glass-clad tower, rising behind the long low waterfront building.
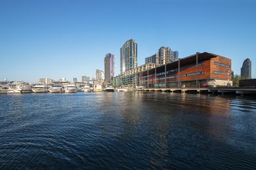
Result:
<instances>
[{"instance_id":1,"label":"tallest glass-clad tower, rising behind the long low waterfront building","mask_svg":"<svg viewBox=\"0 0 256 170\"><path fill-rule=\"evenodd\" d=\"M120 48L121 74L137 67L137 43L130 39Z\"/></svg>"}]
</instances>

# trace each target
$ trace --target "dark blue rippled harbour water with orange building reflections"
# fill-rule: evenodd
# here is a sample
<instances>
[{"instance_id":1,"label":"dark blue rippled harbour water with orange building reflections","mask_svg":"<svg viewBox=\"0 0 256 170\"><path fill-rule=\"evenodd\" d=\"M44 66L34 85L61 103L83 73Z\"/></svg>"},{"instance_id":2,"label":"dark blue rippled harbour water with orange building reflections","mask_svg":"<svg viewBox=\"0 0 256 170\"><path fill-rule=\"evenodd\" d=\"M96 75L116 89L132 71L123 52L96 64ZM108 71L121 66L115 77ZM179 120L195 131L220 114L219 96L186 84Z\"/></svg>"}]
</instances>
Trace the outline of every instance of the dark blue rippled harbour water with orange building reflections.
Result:
<instances>
[{"instance_id":1,"label":"dark blue rippled harbour water with orange building reflections","mask_svg":"<svg viewBox=\"0 0 256 170\"><path fill-rule=\"evenodd\" d=\"M256 169L256 98L0 95L0 169Z\"/></svg>"}]
</instances>

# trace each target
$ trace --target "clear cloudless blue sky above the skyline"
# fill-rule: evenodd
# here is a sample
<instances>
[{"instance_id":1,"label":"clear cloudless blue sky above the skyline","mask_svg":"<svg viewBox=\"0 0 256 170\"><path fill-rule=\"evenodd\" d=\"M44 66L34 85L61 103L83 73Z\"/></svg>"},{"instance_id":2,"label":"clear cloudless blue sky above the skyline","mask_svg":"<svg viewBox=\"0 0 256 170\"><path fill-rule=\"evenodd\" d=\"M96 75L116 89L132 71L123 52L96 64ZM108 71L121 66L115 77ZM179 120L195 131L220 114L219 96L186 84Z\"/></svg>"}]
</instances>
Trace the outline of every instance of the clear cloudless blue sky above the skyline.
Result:
<instances>
[{"instance_id":1,"label":"clear cloudless blue sky above the skyline","mask_svg":"<svg viewBox=\"0 0 256 170\"><path fill-rule=\"evenodd\" d=\"M128 39L138 43L138 65L160 46L183 58L212 52L232 59L240 74L252 61L256 78L256 1L0 1L0 80L72 80L104 71L104 56Z\"/></svg>"}]
</instances>

